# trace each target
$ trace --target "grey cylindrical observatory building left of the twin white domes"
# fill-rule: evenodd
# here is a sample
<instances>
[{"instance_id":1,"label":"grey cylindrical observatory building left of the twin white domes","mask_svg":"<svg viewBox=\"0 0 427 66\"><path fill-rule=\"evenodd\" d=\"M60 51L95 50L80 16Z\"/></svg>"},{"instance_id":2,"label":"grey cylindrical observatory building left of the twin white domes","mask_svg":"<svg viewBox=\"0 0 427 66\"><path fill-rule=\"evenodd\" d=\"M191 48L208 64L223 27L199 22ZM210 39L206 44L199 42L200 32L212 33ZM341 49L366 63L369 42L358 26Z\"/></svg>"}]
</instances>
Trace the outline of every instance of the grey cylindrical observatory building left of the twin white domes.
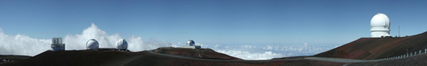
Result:
<instances>
[{"instance_id":1,"label":"grey cylindrical observatory building left of the twin white domes","mask_svg":"<svg viewBox=\"0 0 427 66\"><path fill-rule=\"evenodd\" d=\"M65 43L62 43L62 38L52 38L51 48L53 51L65 50Z\"/></svg>"}]
</instances>

